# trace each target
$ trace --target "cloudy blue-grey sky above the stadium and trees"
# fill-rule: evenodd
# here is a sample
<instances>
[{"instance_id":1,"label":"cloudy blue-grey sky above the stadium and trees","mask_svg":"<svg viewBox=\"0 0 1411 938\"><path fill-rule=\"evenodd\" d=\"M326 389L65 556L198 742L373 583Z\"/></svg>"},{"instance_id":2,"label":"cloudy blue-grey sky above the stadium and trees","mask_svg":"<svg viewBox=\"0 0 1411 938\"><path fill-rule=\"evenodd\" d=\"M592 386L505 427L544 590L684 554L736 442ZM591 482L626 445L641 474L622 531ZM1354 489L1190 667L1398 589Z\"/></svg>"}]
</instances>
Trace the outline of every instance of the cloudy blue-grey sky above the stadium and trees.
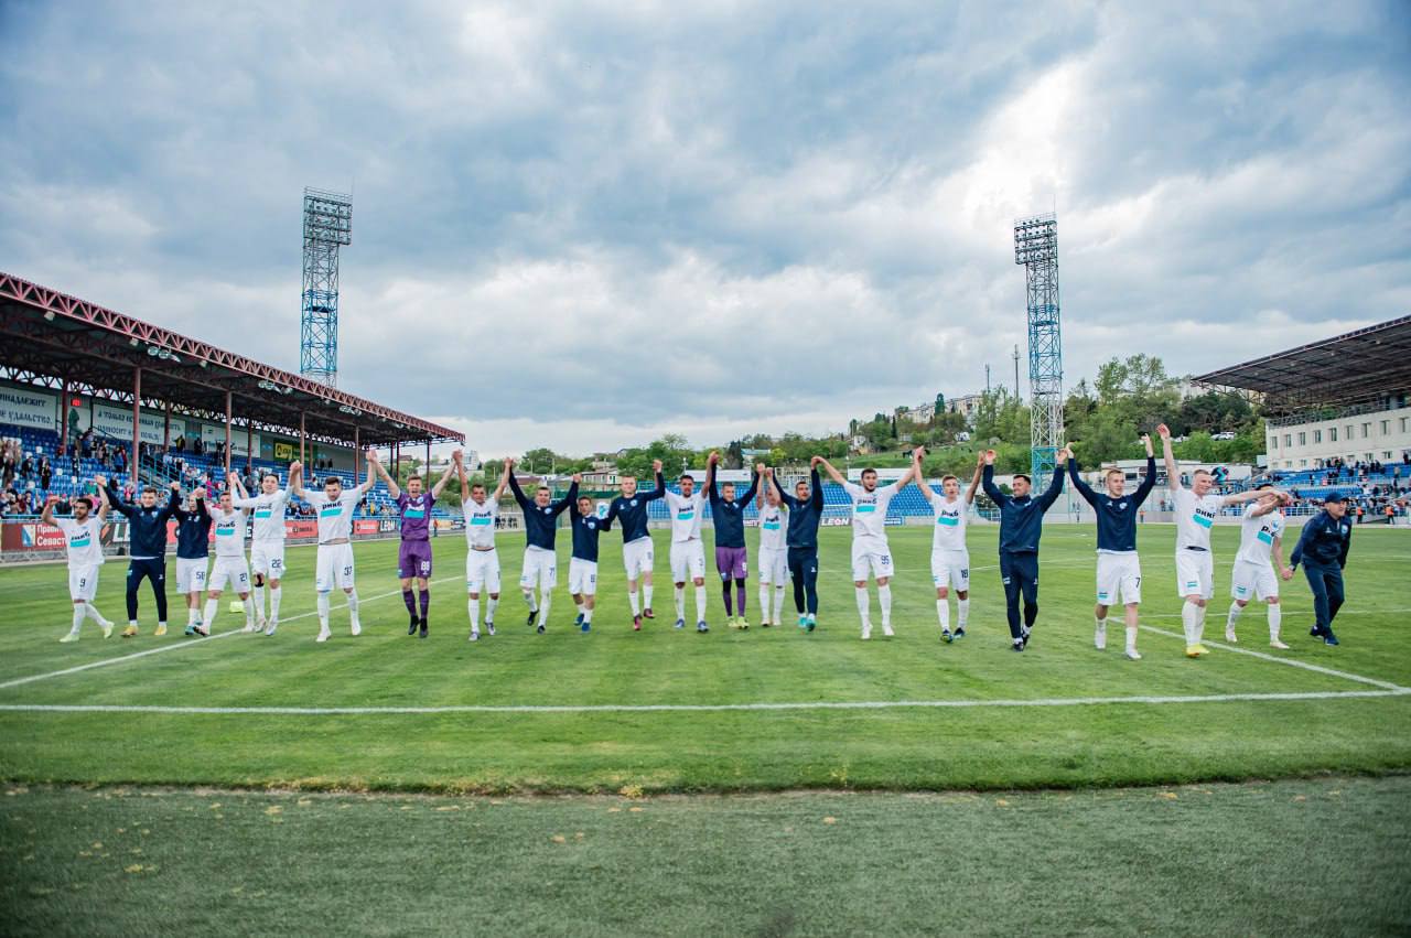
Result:
<instances>
[{"instance_id":1,"label":"cloudy blue-grey sky above the stadium and trees","mask_svg":"<svg viewBox=\"0 0 1411 938\"><path fill-rule=\"evenodd\" d=\"M0 0L0 269L298 370L351 189L340 385L485 454L1012 382L1054 207L1070 384L1411 312L1400 0L326 10Z\"/></svg>"}]
</instances>

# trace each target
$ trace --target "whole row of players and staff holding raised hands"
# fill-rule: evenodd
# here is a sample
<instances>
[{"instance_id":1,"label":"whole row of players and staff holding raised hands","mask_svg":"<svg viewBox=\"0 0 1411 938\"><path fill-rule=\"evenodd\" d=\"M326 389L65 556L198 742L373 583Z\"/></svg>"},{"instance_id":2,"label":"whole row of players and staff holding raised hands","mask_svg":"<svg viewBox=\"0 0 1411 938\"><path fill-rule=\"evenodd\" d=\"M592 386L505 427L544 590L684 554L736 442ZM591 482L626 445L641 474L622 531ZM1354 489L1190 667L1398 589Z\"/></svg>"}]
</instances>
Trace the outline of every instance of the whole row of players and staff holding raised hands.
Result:
<instances>
[{"instance_id":1,"label":"whole row of players and staff holding raised hands","mask_svg":"<svg viewBox=\"0 0 1411 938\"><path fill-rule=\"evenodd\" d=\"M1165 425L1157 427L1163 441L1167 484L1177 518L1175 571L1177 592L1185 599L1181 621L1185 631L1185 654L1199 657L1206 653L1201 643L1205 614L1215 597L1213 553L1211 528L1219 511L1228 505L1246 502L1240 525L1240 547L1235 557L1232 604L1226 618L1225 638L1236 640L1235 626L1240 612L1259 599L1266 604L1268 642L1276 649L1288 646L1280 639L1280 580L1290 580L1300 564L1314 594L1316 625L1311 635L1328 645L1338 645L1332 622L1343 602L1342 568L1348 561L1352 526L1345 518L1345 504L1329 495L1324 511L1312 518L1290 556L1283 559L1285 519L1283 506L1291 498L1261 485L1249 492L1221 495L1213 492L1215 480L1205 470L1197 470L1189 487L1182 485L1171 454L1171 436ZM1141 564L1137 556L1137 515L1156 485L1156 457L1150 436L1141 437L1147 451L1146 478L1132 494L1126 492L1126 478L1120 470L1109 470L1105 491L1088 487L1078 474L1072 447L1058 453L1067 460L1067 475L1074 488L1096 512L1098 570L1094 643L1106 647L1108 612L1122 605L1125 612L1125 654L1140 660L1137 652L1137 621L1141 602ZM240 595L246 611L246 631L274 635L279 623L279 601L285 570L285 506L291 498L301 498L317 512L317 563L315 588L317 591L317 642L332 636L329 629L330 595L341 590L347 595L350 631L361 632L358 597L353 560L353 511L368 489L381 478L395 499L401 513L401 547L396 575L409 615L408 635L428 635L430 607L432 550L430 512L436 499L456 474L461 489L461 509L466 518L466 587L470 640L481 638L481 598L484 597L484 629L495 633L495 609L501 595L499 553L495 544L499 499L508 488L523 511L526 546L519 575L519 588L528 607L528 625L539 633L546 631L553 590L557 585L557 557L555 539L557 518L570 512L573 553L569 561L569 592L577 607L577 625L583 632L593 628L597 598L598 537L614 525L622 536L622 561L626 567L628 604L632 609L632 629L641 631L643 619L653 619L652 571L653 549L648 532L648 505L666 499L672 546L670 567L674 585L676 623L686 628L686 584L691 583L696 598L696 631L708 632L706 621L706 553L701 542L701 515L708 502L715 526L715 568L721 578L725 616L732 628L749 628L746 618L748 553L745 549L745 509L753 501L759 509L759 578L761 625L783 623L785 584L793 583L794 609L799 628L813 632L818 616L818 525L823 520L823 485L818 468L842 485L852 502L852 580L856 591L862 639L872 638L869 580L875 580L882 611L882 633L892 636L892 552L886 537L888 505L912 481L916 481L931 502L934 512L934 540L931 546L931 578L935 585L935 612L941 639L952 642L965 635L969 618L969 552L965 528L975 494L985 494L999 508L999 571L1005 587L1006 615L1012 647L1023 652L1033 636L1038 618L1038 546L1043 516L1062 491L1064 473L1054 473L1053 482L1038 497L1031 492L1031 481L1019 474L1012 494L1000 491L993 481L995 451L981 453L975 475L962 494L959 480L945 475L941 492L934 492L921 474L923 450L913 453L906 475L889 485L878 485L876 470L864 470L861 484L845 480L828 460L816 456L810 478L786 492L772 468L755 467L749 488L737 491L734 482L717 485L718 456L710 454L706 480L696 488L691 475L682 475L680 492L666 488L662 463L653 465L656 488L638 491L638 480L621 478L621 494L600 516L588 497L579 497L580 477L574 475L569 492L552 499L547 487L538 487L526 495L514 475L514 460L505 460L504 473L495 491L485 485L470 485L461 453L457 450L442 478L425 491L423 480L412 475L402 491L378 461L375 451L367 453L368 477L363 485L344 489L341 480L329 477L322 489L305 488L301 463L289 465L289 487L279 488L279 478L267 473L258 492L247 492L236 474L227 475L226 491L219 505L205 504L202 489L181 498L178 482L171 484L168 504L158 505L155 488L144 488L138 504L124 504L116 485L97 477L99 505L79 498L72 518L54 518L54 498L44 508L44 523L59 528L65 535L69 570L69 594L73 599L73 622L62 642L76 642L83 621L93 619L109 638L113 622L93 607L97 591L103 547L99 539L109 511L117 511L130 525L130 563L127 571L127 628L124 636L138 633L138 588L150 580L157 599L157 635L166 632L166 522L176 519L176 588L186 597L186 635L209 635L222 591L229 584ZM246 559L247 519L253 523L250 559ZM214 537L212 537L214 529ZM214 542L214 563L209 570L210 543ZM253 571L251 571L253 568ZM734 592L731 587L734 585ZM413 591L415 587L415 591ZM950 592L955 592L957 618L951 628ZM268 592L268 614L265 594ZM772 594L772 597L770 597ZM250 601L253 597L253 602ZM205 599L205 605L203 605ZM770 601L772 599L772 601Z\"/></svg>"}]
</instances>

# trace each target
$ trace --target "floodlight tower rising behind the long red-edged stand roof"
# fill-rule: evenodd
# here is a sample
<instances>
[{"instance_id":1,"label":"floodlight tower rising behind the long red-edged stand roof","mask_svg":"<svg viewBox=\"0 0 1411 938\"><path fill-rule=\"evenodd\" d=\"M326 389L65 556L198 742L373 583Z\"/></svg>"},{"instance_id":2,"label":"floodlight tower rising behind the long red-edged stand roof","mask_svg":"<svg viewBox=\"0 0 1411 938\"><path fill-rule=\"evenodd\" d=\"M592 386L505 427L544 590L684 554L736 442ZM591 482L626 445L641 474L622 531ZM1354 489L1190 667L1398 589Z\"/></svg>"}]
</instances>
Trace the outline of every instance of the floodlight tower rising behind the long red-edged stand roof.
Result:
<instances>
[{"instance_id":1,"label":"floodlight tower rising behind the long red-edged stand roof","mask_svg":"<svg viewBox=\"0 0 1411 938\"><path fill-rule=\"evenodd\" d=\"M353 197L303 190L303 327L299 374L339 382L339 247L353 241Z\"/></svg>"}]
</instances>

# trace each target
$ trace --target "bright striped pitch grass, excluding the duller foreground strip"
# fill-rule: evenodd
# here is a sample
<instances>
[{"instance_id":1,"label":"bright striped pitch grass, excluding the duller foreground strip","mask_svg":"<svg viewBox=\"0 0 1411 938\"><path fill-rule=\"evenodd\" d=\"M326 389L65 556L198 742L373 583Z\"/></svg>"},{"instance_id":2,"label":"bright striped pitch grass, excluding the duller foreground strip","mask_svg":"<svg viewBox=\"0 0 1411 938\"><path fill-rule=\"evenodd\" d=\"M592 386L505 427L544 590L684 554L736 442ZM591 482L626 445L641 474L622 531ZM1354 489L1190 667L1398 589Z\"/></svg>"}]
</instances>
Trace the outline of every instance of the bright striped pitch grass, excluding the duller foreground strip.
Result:
<instances>
[{"instance_id":1,"label":"bright striped pitch grass, excluding the duller foreground strip","mask_svg":"<svg viewBox=\"0 0 1411 938\"><path fill-rule=\"evenodd\" d=\"M107 704L209 707L621 705L841 701L1002 701L1091 697L1187 697L1374 691L1335 674L1216 649L1198 662L1180 638L1144 632L1146 660L1126 662L1120 638L1092 647L1094 535L1053 525L1044 535L1040 616L1029 652L1007 650L993 570L995 529L971 532L971 638L937 640L927 528L890 535L897 638L858 640L845 571L849 535L824 530L820 629L710 635L674 632L670 585L658 585L655 623L636 635L626 619L619 544L605 539L594 632L571 626L557 591L549 635L523 626L514 583L521 539L501 539L509 594L501 635L470 645L460 581L464 543L436 543L432 638L405 635L392 575L395 544L357 547L364 635L315 645L313 552L289 552L286 625L275 638L237 635L192 643L179 632L78 645L56 639L68 623L62 567L0 571L0 683L103 662L137 650L165 653L0 688L0 705ZM1219 638L1237 530L1215 532L1216 599L1208 635ZM566 540L566 537L560 539ZM1146 622L1180 631L1174 530L1141 532ZM658 574L666 542L658 532ZM567 573L567 544L560 544ZM1276 657L1411 684L1403 623L1411 539L1357 532L1348 570L1345 643L1307 635L1302 578L1285 584ZM123 563L103 571L100 608L121 619ZM560 581L566 581L566 575ZM721 619L718 581L708 581ZM752 615L756 590L749 588ZM690 604L690 598L687 599ZM174 604L175 605L175 604ZM237 626L223 614L217 632ZM1118 629L1120 632L1120 629ZM1252 608L1239 647L1268 652L1263 611ZM158 714L0 711L0 777L17 781L171 783L429 791L751 791L787 788L1030 788L1165 784L1316 773L1387 773L1411 766L1411 695L1322 700L1222 700L1177 704L967 707L701 712L442 714Z\"/></svg>"}]
</instances>

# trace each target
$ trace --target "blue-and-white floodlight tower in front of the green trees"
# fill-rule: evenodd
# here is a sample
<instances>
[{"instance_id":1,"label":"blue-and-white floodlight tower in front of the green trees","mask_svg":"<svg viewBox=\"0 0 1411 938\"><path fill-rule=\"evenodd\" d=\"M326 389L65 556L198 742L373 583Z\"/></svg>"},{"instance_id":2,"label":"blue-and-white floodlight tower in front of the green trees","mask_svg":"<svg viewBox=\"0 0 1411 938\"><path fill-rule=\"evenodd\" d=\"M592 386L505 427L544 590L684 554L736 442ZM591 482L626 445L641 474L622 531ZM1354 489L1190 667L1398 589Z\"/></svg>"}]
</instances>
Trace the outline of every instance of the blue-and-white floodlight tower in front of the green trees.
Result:
<instances>
[{"instance_id":1,"label":"blue-and-white floodlight tower in front of the green trees","mask_svg":"<svg viewBox=\"0 0 1411 938\"><path fill-rule=\"evenodd\" d=\"M1029 285L1030 470L1034 488L1048 484L1062 446L1062 330L1058 319L1058 220L1015 221L1015 264Z\"/></svg>"}]
</instances>

